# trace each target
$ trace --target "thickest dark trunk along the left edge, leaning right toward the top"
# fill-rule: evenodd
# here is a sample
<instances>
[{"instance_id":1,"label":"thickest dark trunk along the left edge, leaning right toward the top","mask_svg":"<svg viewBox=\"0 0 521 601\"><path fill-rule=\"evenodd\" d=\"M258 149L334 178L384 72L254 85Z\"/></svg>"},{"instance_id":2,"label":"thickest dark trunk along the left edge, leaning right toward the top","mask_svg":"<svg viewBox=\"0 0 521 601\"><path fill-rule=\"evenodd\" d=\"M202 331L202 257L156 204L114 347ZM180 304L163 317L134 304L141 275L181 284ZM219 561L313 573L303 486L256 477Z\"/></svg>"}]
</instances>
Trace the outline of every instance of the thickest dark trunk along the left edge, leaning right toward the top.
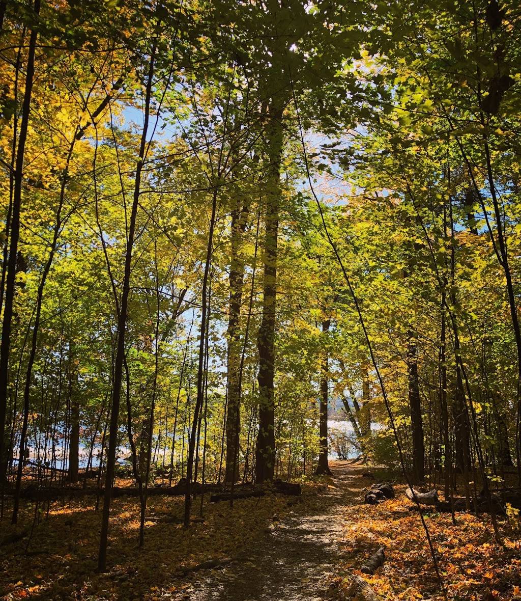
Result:
<instances>
[{"instance_id":1,"label":"thickest dark trunk along the left edge, leaning right toward the top","mask_svg":"<svg viewBox=\"0 0 521 601\"><path fill-rule=\"evenodd\" d=\"M34 2L34 13L40 14L40 0ZM36 29L31 30L25 76L25 93L23 94L22 121L14 165L13 206L11 209L11 227L9 257L7 260L7 278L4 293L4 320L2 321L2 340L0 342L0 480L5 480L7 472L7 448L5 445L5 417L7 414L9 352L11 348L11 322L13 320L14 281L16 276L16 259L20 238L20 209L22 206L23 161L25 142L31 113L32 84L34 80L34 58L37 40Z\"/></svg>"}]
</instances>

